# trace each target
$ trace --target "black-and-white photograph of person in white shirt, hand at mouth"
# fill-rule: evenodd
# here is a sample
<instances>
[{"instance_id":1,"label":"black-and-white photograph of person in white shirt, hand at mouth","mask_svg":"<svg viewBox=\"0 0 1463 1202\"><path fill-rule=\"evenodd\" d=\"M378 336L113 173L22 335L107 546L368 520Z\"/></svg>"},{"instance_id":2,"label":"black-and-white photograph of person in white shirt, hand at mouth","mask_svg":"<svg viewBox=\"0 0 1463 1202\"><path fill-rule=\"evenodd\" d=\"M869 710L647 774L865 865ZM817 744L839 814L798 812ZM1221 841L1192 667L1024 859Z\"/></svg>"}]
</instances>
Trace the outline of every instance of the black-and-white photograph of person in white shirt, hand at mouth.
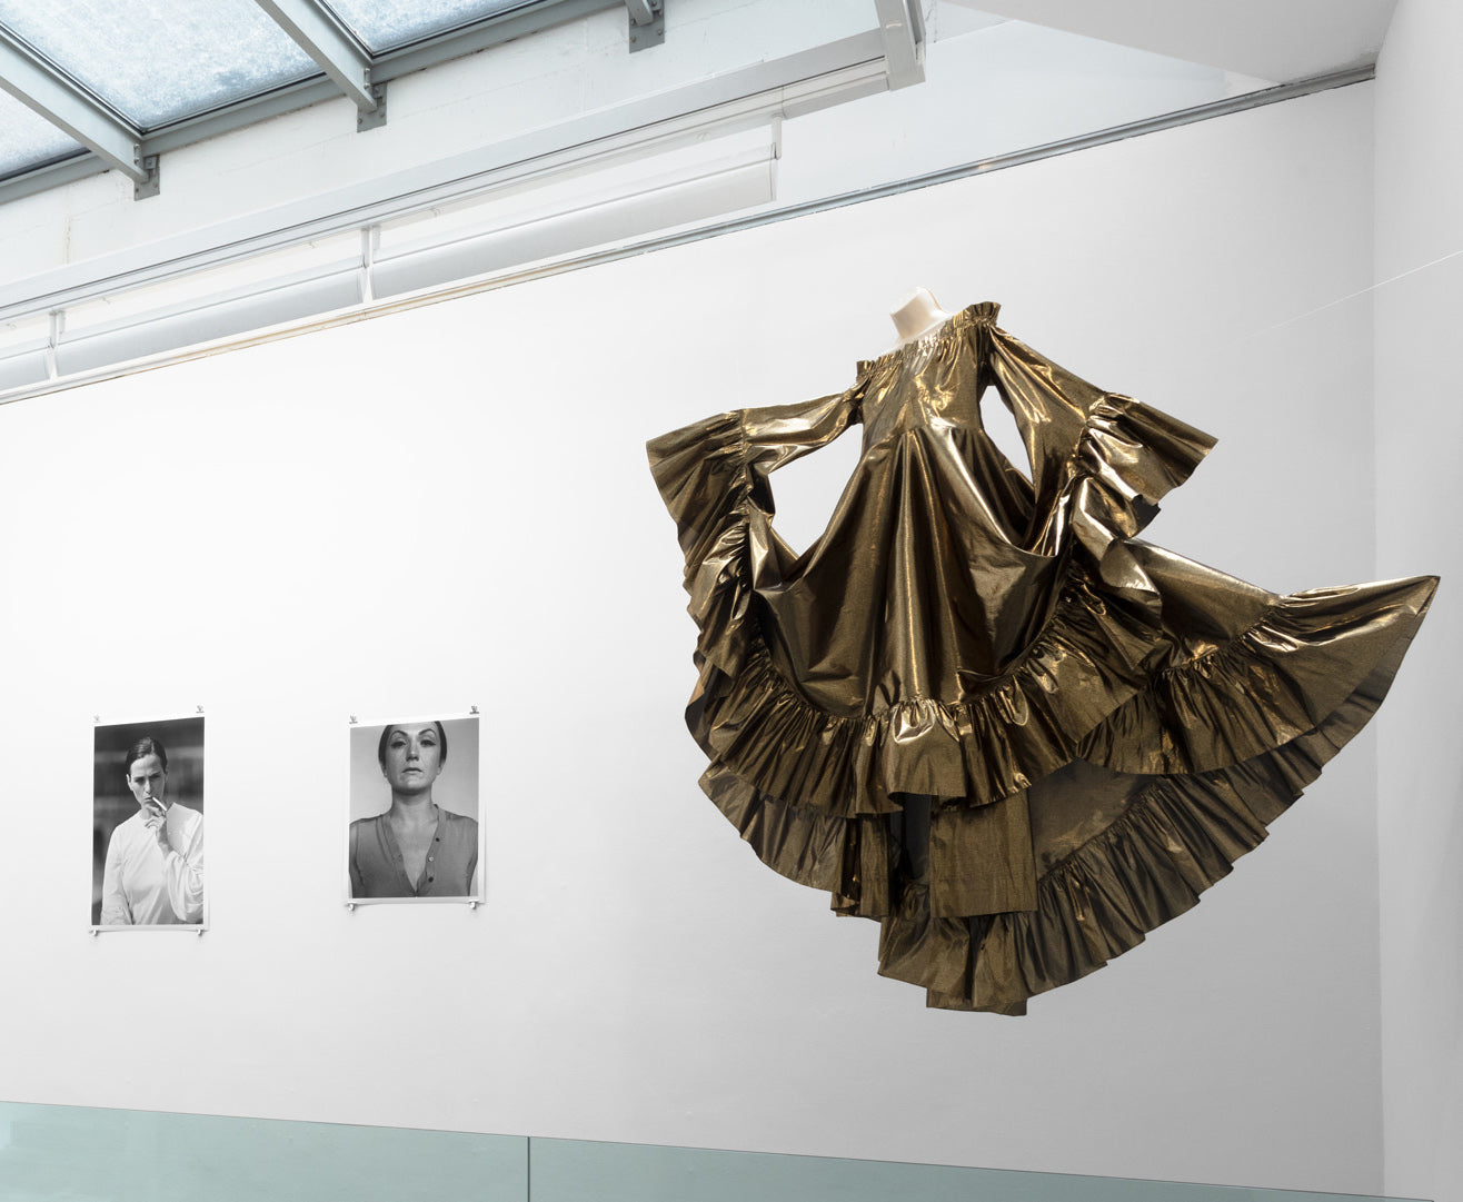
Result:
<instances>
[{"instance_id":1,"label":"black-and-white photograph of person in white shirt, hand at mouth","mask_svg":"<svg viewBox=\"0 0 1463 1202\"><path fill-rule=\"evenodd\" d=\"M203 716L98 723L94 931L206 927Z\"/></svg>"}]
</instances>

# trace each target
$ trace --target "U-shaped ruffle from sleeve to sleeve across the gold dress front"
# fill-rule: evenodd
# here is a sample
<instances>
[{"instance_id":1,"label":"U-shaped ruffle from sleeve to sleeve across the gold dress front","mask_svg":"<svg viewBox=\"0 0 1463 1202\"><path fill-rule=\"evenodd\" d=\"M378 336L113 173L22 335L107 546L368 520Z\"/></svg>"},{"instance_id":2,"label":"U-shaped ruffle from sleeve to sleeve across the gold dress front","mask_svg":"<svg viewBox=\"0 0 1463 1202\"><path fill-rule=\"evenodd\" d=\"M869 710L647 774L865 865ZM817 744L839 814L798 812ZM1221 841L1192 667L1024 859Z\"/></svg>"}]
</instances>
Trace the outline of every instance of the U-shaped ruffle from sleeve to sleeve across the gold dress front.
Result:
<instances>
[{"instance_id":1,"label":"U-shaped ruffle from sleeve to sleeve across the gold dress front","mask_svg":"<svg viewBox=\"0 0 1463 1202\"><path fill-rule=\"evenodd\" d=\"M699 630L688 726L710 758L756 789L835 815L895 811L892 795L903 792L986 805L1028 788L1071 760L1146 679L1162 637L1157 591L1124 539L1211 445L1138 401L1100 401L1075 452L1072 524L1103 596L1069 562L1043 632L985 693L957 706L922 698L843 716L783 678L752 625L748 523L758 474L742 414L652 441L651 467L677 521L688 611Z\"/></svg>"}]
</instances>

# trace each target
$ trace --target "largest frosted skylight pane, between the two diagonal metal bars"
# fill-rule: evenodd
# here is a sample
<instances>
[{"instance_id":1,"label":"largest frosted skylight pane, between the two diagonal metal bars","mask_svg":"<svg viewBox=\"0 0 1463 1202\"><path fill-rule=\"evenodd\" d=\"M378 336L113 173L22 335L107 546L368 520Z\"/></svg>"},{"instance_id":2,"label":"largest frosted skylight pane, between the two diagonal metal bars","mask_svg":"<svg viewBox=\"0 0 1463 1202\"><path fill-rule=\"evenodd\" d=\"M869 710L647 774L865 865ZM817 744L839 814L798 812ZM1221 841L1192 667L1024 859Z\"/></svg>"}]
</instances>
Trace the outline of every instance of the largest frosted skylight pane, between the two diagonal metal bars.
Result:
<instances>
[{"instance_id":1,"label":"largest frosted skylight pane, between the two diagonal metal bars","mask_svg":"<svg viewBox=\"0 0 1463 1202\"><path fill-rule=\"evenodd\" d=\"M0 0L0 23L145 130L319 73L253 0Z\"/></svg>"}]
</instances>

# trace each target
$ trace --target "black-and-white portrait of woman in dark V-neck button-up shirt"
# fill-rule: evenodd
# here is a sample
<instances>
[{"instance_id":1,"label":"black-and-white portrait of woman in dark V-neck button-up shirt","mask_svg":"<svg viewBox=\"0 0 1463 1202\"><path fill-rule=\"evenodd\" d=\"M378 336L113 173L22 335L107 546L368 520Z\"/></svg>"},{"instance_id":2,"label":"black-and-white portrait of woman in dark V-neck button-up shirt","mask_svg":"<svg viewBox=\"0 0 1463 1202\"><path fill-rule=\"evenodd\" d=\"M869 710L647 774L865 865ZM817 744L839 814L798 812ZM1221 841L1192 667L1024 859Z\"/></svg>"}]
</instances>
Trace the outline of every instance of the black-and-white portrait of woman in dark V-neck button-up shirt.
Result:
<instances>
[{"instance_id":1,"label":"black-and-white portrait of woman in dark V-neck button-up shirt","mask_svg":"<svg viewBox=\"0 0 1463 1202\"><path fill-rule=\"evenodd\" d=\"M350 728L347 900L480 902L477 717Z\"/></svg>"}]
</instances>

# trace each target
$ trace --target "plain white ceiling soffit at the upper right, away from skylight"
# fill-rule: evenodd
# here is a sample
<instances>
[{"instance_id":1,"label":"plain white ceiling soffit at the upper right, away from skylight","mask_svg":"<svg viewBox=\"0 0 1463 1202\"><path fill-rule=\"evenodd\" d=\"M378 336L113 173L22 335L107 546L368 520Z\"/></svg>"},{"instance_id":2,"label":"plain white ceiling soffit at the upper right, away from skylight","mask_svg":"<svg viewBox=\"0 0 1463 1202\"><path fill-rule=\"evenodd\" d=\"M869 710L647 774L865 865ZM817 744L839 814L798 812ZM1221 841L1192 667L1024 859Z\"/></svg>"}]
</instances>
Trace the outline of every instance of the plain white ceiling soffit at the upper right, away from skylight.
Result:
<instances>
[{"instance_id":1,"label":"plain white ceiling soffit at the upper right, away from skylight","mask_svg":"<svg viewBox=\"0 0 1463 1202\"><path fill-rule=\"evenodd\" d=\"M1397 0L954 3L1276 83L1375 63L1397 6Z\"/></svg>"}]
</instances>

